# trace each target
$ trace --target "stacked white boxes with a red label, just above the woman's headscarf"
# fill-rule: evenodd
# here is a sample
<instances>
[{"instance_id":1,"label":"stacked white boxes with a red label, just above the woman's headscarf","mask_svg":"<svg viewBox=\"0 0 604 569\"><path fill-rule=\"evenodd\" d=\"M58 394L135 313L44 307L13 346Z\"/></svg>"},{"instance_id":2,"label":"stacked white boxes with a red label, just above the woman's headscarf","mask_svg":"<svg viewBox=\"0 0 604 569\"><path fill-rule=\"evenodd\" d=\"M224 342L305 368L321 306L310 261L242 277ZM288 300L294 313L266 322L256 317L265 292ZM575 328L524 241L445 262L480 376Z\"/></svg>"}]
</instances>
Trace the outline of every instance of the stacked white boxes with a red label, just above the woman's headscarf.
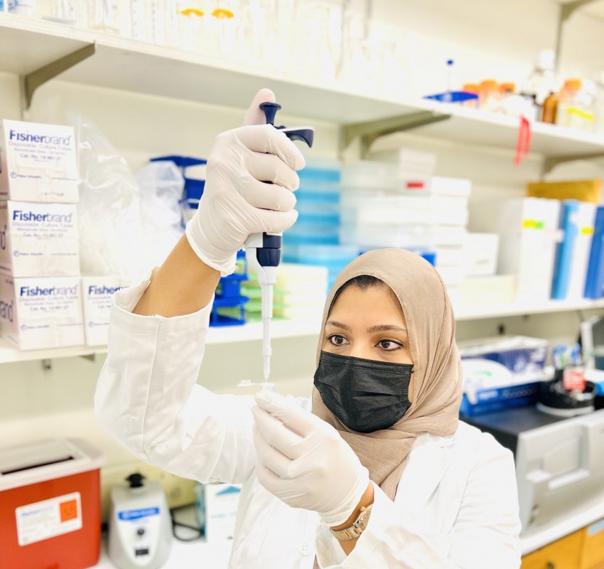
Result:
<instances>
[{"instance_id":1,"label":"stacked white boxes with a red label, just above the woman's headscarf","mask_svg":"<svg viewBox=\"0 0 604 569\"><path fill-rule=\"evenodd\" d=\"M451 297L465 275L471 182L401 164L360 161L342 175L340 241L361 252L394 247L433 262Z\"/></svg>"}]
</instances>

